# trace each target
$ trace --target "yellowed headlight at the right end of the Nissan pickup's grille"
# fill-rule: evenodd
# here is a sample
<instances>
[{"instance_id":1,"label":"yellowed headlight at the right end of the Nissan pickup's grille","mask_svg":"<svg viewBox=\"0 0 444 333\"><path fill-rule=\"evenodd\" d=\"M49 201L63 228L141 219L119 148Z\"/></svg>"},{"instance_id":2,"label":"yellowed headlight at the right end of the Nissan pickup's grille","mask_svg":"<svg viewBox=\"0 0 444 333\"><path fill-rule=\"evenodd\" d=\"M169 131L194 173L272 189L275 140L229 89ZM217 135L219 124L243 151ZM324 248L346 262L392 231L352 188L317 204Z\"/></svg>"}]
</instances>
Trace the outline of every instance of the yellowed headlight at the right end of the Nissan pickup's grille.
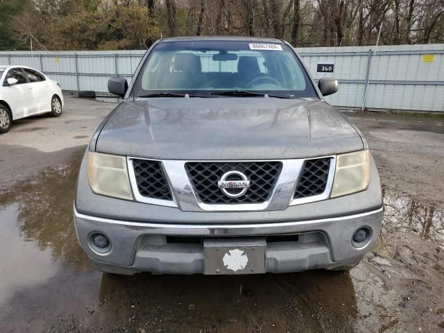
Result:
<instances>
[{"instance_id":1,"label":"yellowed headlight at the right end of the Nissan pickup's grille","mask_svg":"<svg viewBox=\"0 0 444 333\"><path fill-rule=\"evenodd\" d=\"M357 151L355 153L336 156L336 171L331 198L364 191L370 181L370 153Z\"/></svg>"}]
</instances>

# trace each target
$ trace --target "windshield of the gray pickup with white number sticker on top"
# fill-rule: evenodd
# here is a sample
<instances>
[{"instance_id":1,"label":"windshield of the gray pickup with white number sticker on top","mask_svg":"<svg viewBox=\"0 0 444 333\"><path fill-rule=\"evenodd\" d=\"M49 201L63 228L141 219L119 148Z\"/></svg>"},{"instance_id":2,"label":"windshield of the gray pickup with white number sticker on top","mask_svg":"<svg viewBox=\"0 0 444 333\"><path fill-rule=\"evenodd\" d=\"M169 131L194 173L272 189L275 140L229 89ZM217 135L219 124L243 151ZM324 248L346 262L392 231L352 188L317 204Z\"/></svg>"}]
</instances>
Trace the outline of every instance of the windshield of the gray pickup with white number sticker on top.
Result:
<instances>
[{"instance_id":1,"label":"windshield of the gray pickup with white number sticker on top","mask_svg":"<svg viewBox=\"0 0 444 333\"><path fill-rule=\"evenodd\" d=\"M134 96L180 94L317 97L286 44L214 40L157 44L135 81Z\"/></svg>"}]
</instances>

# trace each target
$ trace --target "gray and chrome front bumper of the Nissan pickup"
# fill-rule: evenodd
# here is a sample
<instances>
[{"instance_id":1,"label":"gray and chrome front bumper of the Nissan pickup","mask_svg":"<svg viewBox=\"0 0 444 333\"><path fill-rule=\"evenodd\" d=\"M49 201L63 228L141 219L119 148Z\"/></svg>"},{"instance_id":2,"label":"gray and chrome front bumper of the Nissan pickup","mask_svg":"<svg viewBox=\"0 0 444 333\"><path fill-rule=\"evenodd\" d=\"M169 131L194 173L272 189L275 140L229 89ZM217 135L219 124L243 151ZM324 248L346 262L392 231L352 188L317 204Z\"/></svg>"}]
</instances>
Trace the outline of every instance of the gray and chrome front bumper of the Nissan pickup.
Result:
<instances>
[{"instance_id":1,"label":"gray and chrome front bumper of the Nissan pickup","mask_svg":"<svg viewBox=\"0 0 444 333\"><path fill-rule=\"evenodd\" d=\"M203 213L211 214L211 213ZM133 274L195 274L204 271L202 244L167 241L167 236L257 237L297 234L297 241L266 244L268 273L335 268L356 262L370 250L379 234L382 207L360 214L307 221L239 224L141 223L80 214L74 207L77 237L83 250L101 271ZM352 244L352 235L361 227L371 230L365 246ZM91 246L90 235L101 232L110 239L110 250L99 253Z\"/></svg>"}]
</instances>

